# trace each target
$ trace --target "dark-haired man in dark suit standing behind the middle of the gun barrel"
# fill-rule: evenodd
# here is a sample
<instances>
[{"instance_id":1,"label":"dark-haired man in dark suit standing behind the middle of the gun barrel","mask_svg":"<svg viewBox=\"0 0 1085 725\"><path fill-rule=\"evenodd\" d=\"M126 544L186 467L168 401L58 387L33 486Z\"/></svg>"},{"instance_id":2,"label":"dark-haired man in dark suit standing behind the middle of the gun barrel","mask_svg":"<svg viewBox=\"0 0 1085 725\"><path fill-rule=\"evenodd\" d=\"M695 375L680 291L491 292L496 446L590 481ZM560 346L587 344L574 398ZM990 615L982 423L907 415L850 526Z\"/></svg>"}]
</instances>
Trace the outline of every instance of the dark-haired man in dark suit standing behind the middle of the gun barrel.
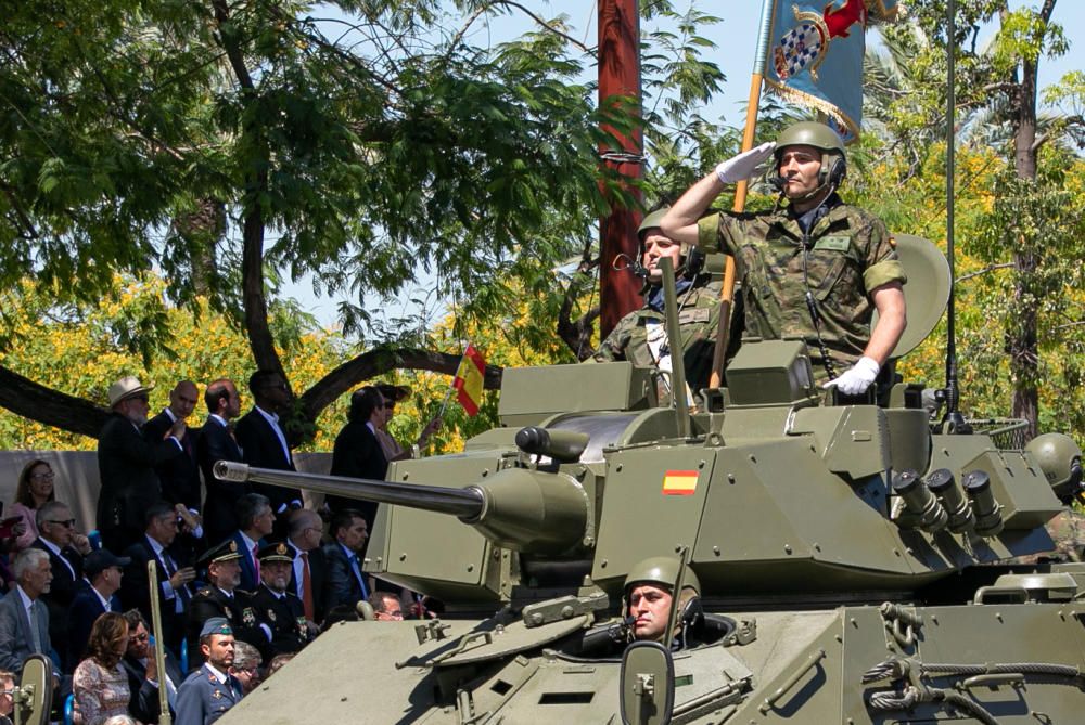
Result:
<instances>
[{"instance_id":1,"label":"dark-haired man in dark suit standing behind the middle of the gun barrel","mask_svg":"<svg viewBox=\"0 0 1085 725\"><path fill-rule=\"evenodd\" d=\"M380 390L366 386L350 394L350 409L346 414L347 424L335 437L332 476L384 480L388 461L384 457L384 451L376 439L376 426L383 417L384 396ZM341 496L328 496L324 501L333 513L346 508L361 512L367 526L372 528L373 519L376 518L376 504Z\"/></svg>"}]
</instances>

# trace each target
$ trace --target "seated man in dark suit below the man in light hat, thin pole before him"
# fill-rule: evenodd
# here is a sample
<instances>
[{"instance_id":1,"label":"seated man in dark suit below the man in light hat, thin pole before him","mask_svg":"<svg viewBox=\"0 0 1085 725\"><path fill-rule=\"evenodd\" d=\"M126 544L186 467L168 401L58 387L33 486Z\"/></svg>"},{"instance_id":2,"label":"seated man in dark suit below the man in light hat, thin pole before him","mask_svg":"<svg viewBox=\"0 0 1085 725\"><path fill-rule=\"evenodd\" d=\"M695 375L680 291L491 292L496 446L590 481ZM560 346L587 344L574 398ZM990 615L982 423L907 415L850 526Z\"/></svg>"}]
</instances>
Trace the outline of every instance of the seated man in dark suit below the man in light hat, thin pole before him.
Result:
<instances>
[{"instance_id":1,"label":"seated man in dark suit below the man in light hat, thin pole before him","mask_svg":"<svg viewBox=\"0 0 1085 725\"><path fill-rule=\"evenodd\" d=\"M189 604L195 594L191 585L196 572L187 558L188 551L177 545L178 515L166 502L149 506L143 535L125 549L131 562L125 569L120 584L120 600L125 608L136 608L145 620L151 619L151 590L146 565L154 561L158 578L158 605L162 613L162 640L180 652Z\"/></svg>"}]
</instances>

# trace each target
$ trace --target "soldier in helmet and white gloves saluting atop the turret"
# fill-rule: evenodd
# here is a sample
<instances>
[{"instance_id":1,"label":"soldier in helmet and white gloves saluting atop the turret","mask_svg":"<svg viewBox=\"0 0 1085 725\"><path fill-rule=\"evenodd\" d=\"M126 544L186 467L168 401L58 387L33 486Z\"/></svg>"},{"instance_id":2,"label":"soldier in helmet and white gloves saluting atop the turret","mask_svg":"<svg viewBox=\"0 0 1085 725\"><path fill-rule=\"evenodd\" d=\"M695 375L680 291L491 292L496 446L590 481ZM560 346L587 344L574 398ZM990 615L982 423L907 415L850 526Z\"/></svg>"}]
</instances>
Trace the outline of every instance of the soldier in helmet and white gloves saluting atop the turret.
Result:
<instances>
[{"instance_id":1,"label":"soldier in helmet and white gloves saluting atop the turret","mask_svg":"<svg viewBox=\"0 0 1085 725\"><path fill-rule=\"evenodd\" d=\"M755 174L769 158L769 181L786 206L702 218L727 184ZM746 335L805 340L816 381L856 396L875 383L901 339L907 277L885 224L837 194L846 172L840 135L802 121L777 142L722 163L659 223L673 239L735 257Z\"/></svg>"}]
</instances>

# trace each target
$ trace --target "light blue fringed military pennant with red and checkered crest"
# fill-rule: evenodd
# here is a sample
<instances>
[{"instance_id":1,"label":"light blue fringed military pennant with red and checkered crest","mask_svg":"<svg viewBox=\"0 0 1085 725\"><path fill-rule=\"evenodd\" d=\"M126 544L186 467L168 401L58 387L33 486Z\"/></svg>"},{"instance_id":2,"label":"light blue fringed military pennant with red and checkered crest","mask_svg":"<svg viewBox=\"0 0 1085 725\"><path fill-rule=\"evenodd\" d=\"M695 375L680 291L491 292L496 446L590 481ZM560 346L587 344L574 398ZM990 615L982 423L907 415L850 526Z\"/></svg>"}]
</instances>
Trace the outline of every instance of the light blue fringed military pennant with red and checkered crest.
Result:
<instances>
[{"instance_id":1,"label":"light blue fringed military pennant with red and checkered crest","mask_svg":"<svg viewBox=\"0 0 1085 725\"><path fill-rule=\"evenodd\" d=\"M845 141L863 120L863 55L871 20L896 0L765 0L773 4L764 77L778 95L828 116Z\"/></svg>"}]
</instances>

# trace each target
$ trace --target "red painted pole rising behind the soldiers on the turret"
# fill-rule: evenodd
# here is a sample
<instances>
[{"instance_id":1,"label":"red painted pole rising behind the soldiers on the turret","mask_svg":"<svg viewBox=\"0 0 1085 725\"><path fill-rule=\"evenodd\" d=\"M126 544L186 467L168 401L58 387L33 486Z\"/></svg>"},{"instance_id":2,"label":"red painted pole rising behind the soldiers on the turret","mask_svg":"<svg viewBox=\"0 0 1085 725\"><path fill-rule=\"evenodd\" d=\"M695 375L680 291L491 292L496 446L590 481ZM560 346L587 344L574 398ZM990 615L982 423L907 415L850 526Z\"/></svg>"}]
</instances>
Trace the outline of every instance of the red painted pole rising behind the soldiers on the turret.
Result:
<instances>
[{"instance_id":1,"label":"red painted pole rising behind the soldiers on the turret","mask_svg":"<svg viewBox=\"0 0 1085 725\"><path fill-rule=\"evenodd\" d=\"M635 96L640 107L640 14L637 0L599 0L599 104L613 95ZM604 164L629 178L640 179L638 163L607 160L608 152L624 152L640 157L643 135L638 129L631 137L620 137L621 148L601 148ZM614 270L614 259L624 254L636 259L637 226L641 215L636 209L611 207L599 223L599 318L600 337L605 337L627 312L641 306L640 280L628 271ZM621 264L625 267L625 264Z\"/></svg>"}]
</instances>

